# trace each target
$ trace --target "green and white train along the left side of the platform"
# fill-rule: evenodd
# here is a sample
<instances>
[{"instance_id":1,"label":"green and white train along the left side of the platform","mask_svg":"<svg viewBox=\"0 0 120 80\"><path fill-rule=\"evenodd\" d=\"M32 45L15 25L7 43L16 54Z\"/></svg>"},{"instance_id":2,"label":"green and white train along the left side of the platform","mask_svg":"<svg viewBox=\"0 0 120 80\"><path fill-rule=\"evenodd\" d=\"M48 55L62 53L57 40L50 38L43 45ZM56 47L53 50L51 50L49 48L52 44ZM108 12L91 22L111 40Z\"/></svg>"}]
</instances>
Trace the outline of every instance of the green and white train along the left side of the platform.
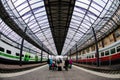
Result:
<instances>
[{"instance_id":1,"label":"green and white train along the left side of the platform","mask_svg":"<svg viewBox=\"0 0 120 80\"><path fill-rule=\"evenodd\" d=\"M37 54L32 54L30 52L22 52L22 62L23 63L35 63L40 62L41 57ZM43 59L44 61L46 59ZM0 40L0 62L3 63L19 63L20 61L20 49L16 48L4 41Z\"/></svg>"}]
</instances>

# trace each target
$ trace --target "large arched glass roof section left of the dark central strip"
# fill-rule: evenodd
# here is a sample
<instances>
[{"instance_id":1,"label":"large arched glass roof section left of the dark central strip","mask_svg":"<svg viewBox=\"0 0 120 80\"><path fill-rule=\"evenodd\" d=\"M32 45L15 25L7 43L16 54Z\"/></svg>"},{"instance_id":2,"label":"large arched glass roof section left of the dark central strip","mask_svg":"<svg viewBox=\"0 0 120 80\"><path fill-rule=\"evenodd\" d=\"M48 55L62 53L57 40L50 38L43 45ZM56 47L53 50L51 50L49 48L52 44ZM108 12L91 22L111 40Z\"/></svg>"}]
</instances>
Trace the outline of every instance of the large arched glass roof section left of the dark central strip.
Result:
<instances>
[{"instance_id":1,"label":"large arched glass roof section left of the dark central strip","mask_svg":"<svg viewBox=\"0 0 120 80\"><path fill-rule=\"evenodd\" d=\"M57 54L43 0L2 0L2 2L19 27L27 26L49 50Z\"/></svg>"}]
</instances>

